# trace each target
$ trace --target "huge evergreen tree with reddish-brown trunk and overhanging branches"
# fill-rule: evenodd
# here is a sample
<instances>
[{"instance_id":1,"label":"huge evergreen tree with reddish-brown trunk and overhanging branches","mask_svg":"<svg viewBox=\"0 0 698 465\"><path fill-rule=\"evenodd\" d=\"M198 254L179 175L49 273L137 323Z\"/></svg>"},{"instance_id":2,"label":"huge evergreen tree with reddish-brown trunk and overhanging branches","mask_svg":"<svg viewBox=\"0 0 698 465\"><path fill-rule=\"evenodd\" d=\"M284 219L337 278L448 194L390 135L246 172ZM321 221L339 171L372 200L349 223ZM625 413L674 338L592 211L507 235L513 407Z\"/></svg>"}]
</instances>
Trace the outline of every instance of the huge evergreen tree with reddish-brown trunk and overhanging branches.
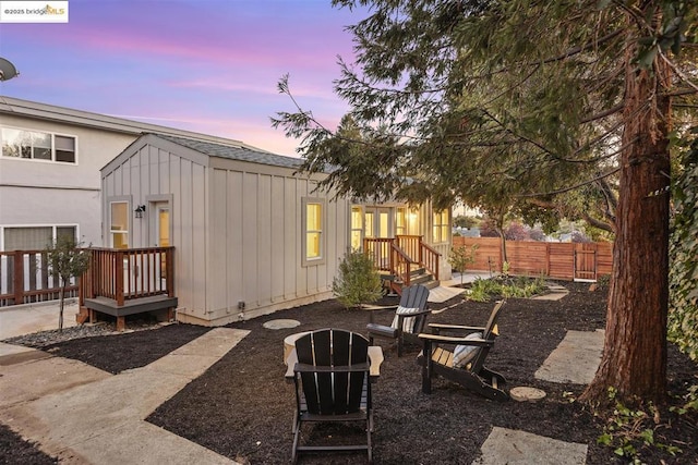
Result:
<instances>
[{"instance_id":1,"label":"huge evergreen tree with reddish-brown trunk and overhanging branches","mask_svg":"<svg viewBox=\"0 0 698 465\"><path fill-rule=\"evenodd\" d=\"M372 162L333 171L325 184L359 198L430 199L437 208L460 200L497 218L524 212L529 224L554 210L615 232L603 359L582 399L604 402L613 387L626 404L662 402L670 139L696 114L698 7L334 4L371 5L349 28L357 66L340 61L335 85L364 137L338 137L300 107L279 113L273 124L303 137L303 168L342 167L359 150ZM279 89L291 95L288 77ZM575 198L579 189L593 201Z\"/></svg>"}]
</instances>

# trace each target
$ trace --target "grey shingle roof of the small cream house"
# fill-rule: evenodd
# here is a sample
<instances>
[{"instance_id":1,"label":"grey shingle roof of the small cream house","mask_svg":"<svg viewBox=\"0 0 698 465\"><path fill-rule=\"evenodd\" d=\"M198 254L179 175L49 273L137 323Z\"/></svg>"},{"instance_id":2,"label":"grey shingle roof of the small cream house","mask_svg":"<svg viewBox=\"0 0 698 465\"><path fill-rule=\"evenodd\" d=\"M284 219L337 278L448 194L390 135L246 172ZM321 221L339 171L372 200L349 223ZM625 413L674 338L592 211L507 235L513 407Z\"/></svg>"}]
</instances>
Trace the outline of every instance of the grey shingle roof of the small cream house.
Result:
<instances>
[{"instance_id":1,"label":"grey shingle roof of the small cream house","mask_svg":"<svg viewBox=\"0 0 698 465\"><path fill-rule=\"evenodd\" d=\"M249 161L252 163L270 164L273 167L298 169L303 163L300 158L284 157L281 155L272 154L263 150L254 150L249 146L216 144L207 140L191 139L186 137L177 137L167 134L155 134L156 136L191 148L200 154L209 157L227 158L230 160Z\"/></svg>"}]
</instances>

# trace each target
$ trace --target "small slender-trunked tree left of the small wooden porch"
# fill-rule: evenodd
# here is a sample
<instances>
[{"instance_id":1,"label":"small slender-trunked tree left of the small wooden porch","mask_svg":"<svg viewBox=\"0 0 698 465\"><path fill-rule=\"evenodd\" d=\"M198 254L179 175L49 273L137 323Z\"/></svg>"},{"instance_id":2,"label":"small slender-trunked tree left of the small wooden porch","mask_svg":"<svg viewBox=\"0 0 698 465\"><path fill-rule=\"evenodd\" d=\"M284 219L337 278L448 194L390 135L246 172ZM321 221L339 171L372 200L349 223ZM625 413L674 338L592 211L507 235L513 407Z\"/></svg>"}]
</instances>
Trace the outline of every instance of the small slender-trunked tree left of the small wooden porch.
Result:
<instances>
[{"instance_id":1,"label":"small slender-trunked tree left of the small wooden porch","mask_svg":"<svg viewBox=\"0 0 698 465\"><path fill-rule=\"evenodd\" d=\"M89 252L80 247L71 236L59 236L46 247L48 269L60 280L58 329L63 330L65 287L72 278L80 278L89 268Z\"/></svg>"}]
</instances>

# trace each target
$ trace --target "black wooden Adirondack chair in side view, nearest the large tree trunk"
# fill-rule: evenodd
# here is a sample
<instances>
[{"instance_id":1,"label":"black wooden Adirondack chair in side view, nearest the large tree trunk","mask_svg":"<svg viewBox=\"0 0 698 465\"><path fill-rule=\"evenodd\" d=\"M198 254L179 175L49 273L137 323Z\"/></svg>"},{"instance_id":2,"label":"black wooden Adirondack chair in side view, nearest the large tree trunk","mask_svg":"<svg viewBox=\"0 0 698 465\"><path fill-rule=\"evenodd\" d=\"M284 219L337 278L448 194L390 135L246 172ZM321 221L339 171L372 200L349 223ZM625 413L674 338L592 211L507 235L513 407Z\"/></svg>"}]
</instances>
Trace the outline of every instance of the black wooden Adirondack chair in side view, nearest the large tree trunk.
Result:
<instances>
[{"instance_id":1,"label":"black wooden Adirondack chair in side view, nearest the large tree trunk","mask_svg":"<svg viewBox=\"0 0 698 465\"><path fill-rule=\"evenodd\" d=\"M431 393L432 378L438 375L488 399L509 399L504 390L506 379L484 366L494 339L498 335L496 320L504 303L501 301L494 306L484 327L430 323L433 333L419 334L423 341L423 351L418 357L418 363L422 365L422 392ZM445 335L443 332L457 335ZM424 354L431 356L425 357Z\"/></svg>"}]
</instances>

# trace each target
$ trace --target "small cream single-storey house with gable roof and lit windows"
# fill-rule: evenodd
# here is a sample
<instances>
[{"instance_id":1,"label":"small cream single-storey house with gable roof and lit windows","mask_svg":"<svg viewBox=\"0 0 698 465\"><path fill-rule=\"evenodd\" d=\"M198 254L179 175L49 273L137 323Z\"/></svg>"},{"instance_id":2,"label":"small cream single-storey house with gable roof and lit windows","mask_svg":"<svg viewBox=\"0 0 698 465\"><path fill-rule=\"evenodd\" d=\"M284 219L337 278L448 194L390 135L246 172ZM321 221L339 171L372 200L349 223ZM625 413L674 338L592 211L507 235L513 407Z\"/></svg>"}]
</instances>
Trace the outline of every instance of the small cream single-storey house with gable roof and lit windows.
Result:
<instances>
[{"instance_id":1,"label":"small cream single-storey house with gable roof and lit windows","mask_svg":"<svg viewBox=\"0 0 698 465\"><path fill-rule=\"evenodd\" d=\"M432 276L449 279L449 210L334 199L301 161L145 134L101 169L105 246L173 247L177 319L205 326L330 298L339 261L366 240L414 238L413 266L430 255Z\"/></svg>"}]
</instances>

